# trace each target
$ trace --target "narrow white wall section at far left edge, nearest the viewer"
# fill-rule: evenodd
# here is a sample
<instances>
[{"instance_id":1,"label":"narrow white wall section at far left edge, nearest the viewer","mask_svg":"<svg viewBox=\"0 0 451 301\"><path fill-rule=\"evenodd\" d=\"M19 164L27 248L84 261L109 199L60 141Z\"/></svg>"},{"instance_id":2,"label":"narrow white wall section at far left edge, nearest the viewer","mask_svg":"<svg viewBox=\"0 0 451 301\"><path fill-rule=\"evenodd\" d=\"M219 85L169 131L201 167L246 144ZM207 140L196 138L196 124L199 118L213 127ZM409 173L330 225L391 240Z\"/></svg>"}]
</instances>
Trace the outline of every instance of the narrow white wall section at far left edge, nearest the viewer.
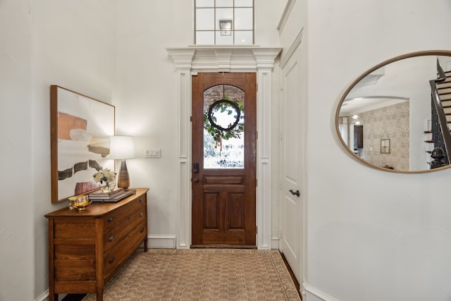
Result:
<instances>
[{"instance_id":1,"label":"narrow white wall section at far left edge, nearest the viewer","mask_svg":"<svg viewBox=\"0 0 451 301\"><path fill-rule=\"evenodd\" d=\"M30 1L0 1L0 300L33 299Z\"/></svg>"}]
</instances>

